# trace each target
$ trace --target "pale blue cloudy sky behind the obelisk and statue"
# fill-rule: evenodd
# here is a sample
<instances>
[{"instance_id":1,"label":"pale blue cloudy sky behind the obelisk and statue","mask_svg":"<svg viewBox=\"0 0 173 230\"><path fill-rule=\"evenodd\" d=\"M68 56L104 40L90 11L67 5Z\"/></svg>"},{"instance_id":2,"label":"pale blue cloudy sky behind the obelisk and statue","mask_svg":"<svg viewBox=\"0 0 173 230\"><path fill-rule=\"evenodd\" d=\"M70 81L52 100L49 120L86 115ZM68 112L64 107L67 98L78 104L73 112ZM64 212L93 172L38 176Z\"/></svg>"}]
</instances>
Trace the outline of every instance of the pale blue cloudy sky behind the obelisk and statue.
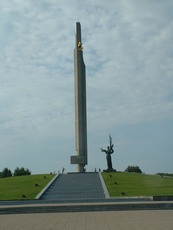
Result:
<instances>
[{"instance_id":1,"label":"pale blue cloudy sky behind the obelisk and statue","mask_svg":"<svg viewBox=\"0 0 173 230\"><path fill-rule=\"evenodd\" d=\"M173 1L0 1L0 171L76 172L74 47L81 23L87 171L173 172Z\"/></svg>"}]
</instances>

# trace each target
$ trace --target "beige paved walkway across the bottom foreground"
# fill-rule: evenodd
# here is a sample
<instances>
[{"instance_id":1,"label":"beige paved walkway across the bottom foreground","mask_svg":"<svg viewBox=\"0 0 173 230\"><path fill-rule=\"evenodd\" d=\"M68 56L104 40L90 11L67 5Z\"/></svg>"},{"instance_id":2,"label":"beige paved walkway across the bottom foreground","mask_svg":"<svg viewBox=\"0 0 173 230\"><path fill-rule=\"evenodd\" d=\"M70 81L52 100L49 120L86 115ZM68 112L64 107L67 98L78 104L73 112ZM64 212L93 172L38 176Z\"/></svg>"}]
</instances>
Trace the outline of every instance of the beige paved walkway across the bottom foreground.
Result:
<instances>
[{"instance_id":1,"label":"beige paved walkway across the bottom foreground","mask_svg":"<svg viewBox=\"0 0 173 230\"><path fill-rule=\"evenodd\" d=\"M0 230L167 230L173 210L1 215Z\"/></svg>"}]
</instances>

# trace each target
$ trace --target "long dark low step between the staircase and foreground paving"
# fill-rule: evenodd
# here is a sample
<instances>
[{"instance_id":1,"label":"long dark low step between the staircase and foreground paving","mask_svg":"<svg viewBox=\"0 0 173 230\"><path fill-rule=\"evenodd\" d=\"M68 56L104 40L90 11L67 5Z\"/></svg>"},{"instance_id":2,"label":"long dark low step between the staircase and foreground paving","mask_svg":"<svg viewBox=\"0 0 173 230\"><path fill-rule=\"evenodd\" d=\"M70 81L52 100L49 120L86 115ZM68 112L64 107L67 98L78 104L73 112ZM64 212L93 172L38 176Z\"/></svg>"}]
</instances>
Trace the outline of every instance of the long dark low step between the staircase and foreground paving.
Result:
<instances>
[{"instance_id":1,"label":"long dark low step between the staircase and foreground paving","mask_svg":"<svg viewBox=\"0 0 173 230\"><path fill-rule=\"evenodd\" d=\"M0 207L0 215L30 213L68 213L98 211L173 210L173 202L95 203L62 205L20 205Z\"/></svg>"}]
</instances>

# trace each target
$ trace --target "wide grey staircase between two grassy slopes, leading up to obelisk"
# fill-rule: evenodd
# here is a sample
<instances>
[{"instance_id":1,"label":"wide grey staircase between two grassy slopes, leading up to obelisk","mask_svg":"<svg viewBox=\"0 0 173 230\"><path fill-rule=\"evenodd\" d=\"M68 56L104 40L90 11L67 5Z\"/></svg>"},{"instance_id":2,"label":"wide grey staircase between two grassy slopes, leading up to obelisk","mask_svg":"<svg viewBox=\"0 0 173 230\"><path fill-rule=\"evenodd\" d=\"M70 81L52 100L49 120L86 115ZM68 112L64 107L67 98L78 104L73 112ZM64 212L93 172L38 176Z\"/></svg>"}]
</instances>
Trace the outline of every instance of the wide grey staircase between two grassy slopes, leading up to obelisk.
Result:
<instances>
[{"instance_id":1,"label":"wide grey staircase between two grassy slopes, leading up to obelisk","mask_svg":"<svg viewBox=\"0 0 173 230\"><path fill-rule=\"evenodd\" d=\"M104 199L104 191L98 173L62 174L40 197L41 200Z\"/></svg>"}]
</instances>

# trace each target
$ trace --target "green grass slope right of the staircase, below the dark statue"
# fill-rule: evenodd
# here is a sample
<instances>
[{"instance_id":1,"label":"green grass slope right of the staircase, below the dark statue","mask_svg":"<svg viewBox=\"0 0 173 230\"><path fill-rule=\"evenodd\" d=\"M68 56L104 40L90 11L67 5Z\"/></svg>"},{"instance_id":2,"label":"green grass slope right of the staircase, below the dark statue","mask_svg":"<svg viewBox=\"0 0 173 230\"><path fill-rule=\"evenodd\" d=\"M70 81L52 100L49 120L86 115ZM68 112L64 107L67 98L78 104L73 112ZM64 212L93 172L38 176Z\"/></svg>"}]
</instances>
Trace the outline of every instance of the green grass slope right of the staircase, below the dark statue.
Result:
<instances>
[{"instance_id":1,"label":"green grass slope right of the staircase, below the dark statue","mask_svg":"<svg viewBox=\"0 0 173 230\"><path fill-rule=\"evenodd\" d=\"M138 173L102 173L111 197L173 195L173 177Z\"/></svg>"}]
</instances>

